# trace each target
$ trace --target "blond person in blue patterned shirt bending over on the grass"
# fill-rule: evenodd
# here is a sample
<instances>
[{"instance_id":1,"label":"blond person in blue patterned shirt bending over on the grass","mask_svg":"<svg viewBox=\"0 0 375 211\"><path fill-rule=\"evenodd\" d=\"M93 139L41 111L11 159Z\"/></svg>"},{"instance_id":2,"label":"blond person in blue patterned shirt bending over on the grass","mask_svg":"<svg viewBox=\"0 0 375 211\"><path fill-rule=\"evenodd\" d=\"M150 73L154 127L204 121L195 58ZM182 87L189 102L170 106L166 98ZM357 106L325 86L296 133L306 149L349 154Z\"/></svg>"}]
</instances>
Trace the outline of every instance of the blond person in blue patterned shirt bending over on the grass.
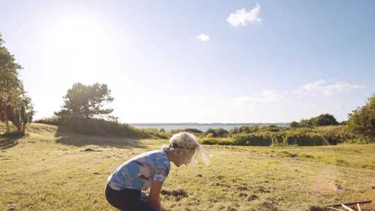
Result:
<instances>
[{"instance_id":1,"label":"blond person in blue patterned shirt bending over on the grass","mask_svg":"<svg viewBox=\"0 0 375 211\"><path fill-rule=\"evenodd\" d=\"M197 137L176 133L162 149L142 153L118 167L108 177L106 199L123 211L161 211L160 190L169 174L170 162L181 167L197 162L198 157L208 164L208 155ZM147 201L142 195L150 187Z\"/></svg>"}]
</instances>

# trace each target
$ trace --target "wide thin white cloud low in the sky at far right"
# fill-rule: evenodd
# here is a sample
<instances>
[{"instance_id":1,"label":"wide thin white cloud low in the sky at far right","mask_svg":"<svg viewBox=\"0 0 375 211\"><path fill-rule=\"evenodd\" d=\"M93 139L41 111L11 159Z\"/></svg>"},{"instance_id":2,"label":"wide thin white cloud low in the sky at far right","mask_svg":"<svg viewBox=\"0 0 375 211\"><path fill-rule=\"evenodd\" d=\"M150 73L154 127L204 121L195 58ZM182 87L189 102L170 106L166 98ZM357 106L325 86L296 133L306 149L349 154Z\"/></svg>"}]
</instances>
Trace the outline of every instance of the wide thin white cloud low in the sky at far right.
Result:
<instances>
[{"instance_id":1,"label":"wide thin white cloud low in the sky at far right","mask_svg":"<svg viewBox=\"0 0 375 211\"><path fill-rule=\"evenodd\" d=\"M332 95L338 92L355 90L361 87L362 86L360 85L352 85L344 81L328 84L323 79L320 79L313 83L306 83L305 85L302 85L299 90L297 90L297 93L310 94L312 96L316 96L317 94Z\"/></svg>"}]
</instances>

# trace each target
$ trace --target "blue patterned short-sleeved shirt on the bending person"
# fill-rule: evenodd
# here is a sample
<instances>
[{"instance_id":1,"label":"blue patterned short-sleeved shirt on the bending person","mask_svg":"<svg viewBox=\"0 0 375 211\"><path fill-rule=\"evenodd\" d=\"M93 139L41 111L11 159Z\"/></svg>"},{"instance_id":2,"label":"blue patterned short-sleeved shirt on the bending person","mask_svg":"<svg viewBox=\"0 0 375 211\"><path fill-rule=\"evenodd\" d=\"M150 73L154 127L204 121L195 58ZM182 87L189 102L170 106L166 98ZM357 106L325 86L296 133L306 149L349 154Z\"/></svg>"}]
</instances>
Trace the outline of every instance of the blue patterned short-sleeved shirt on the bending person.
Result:
<instances>
[{"instance_id":1,"label":"blue patterned short-sleeved shirt on the bending person","mask_svg":"<svg viewBox=\"0 0 375 211\"><path fill-rule=\"evenodd\" d=\"M171 165L164 150L149 151L119 166L108 177L108 184L117 190L146 190L150 188L152 181L163 183L170 169Z\"/></svg>"}]
</instances>

